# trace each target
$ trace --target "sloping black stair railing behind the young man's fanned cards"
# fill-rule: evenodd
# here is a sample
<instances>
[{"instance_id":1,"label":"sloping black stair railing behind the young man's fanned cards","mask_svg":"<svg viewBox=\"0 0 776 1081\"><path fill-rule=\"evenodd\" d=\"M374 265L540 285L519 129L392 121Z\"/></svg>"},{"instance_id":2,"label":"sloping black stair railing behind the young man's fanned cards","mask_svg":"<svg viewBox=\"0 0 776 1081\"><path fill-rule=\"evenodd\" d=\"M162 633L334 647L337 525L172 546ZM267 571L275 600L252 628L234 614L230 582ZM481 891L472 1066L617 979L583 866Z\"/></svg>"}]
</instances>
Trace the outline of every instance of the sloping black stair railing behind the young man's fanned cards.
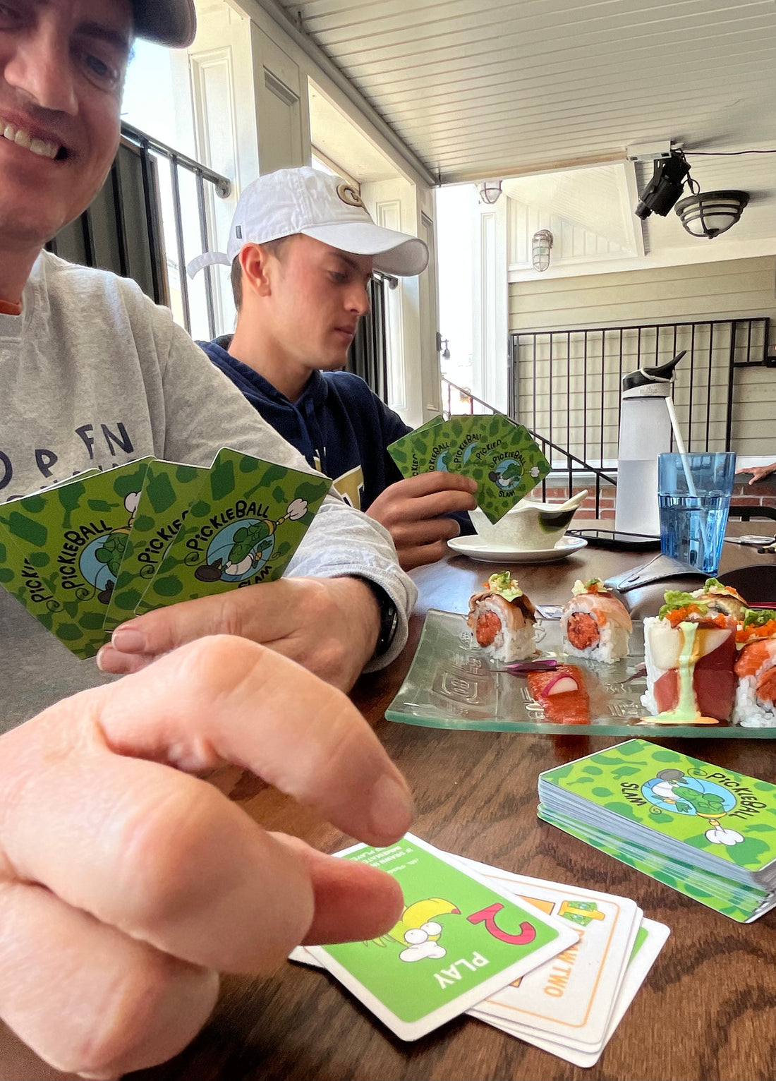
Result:
<instances>
[{"instance_id":1,"label":"sloping black stair railing behind the young man's fanned cards","mask_svg":"<svg viewBox=\"0 0 776 1081\"><path fill-rule=\"evenodd\" d=\"M453 401L454 393L457 397L457 401L455 402ZM476 405L478 406L477 409L474 408ZM451 383L450 379L443 378L442 412L445 418L447 418L452 415L460 415L461 413L473 416L477 413L500 413L501 411L490 405L482 398L478 398L477 395L472 395L466 387L459 387L457 384ZM512 417L511 419L516 418ZM525 427L527 428L527 425ZM527 430L532 439L536 440L541 448L544 456L552 465L552 472L541 481L543 499L547 498L548 486L553 489L553 494L557 496L558 489L561 486L559 482L561 481L565 485L565 497L567 499L575 492L579 492L584 488L589 491L591 484L594 483L594 493L590 496L589 503L586 501L584 506L588 509L594 509L596 518L601 518L603 510L608 511L613 509L614 490L617 486L615 476L605 472L600 466L585 462L576 454L573 454L567 448L560 446L547 436L543 436L532 428L527 428ZM612 491L604 494L602 493L602 488L611 489Z\"/></svg>"}]
</instances>

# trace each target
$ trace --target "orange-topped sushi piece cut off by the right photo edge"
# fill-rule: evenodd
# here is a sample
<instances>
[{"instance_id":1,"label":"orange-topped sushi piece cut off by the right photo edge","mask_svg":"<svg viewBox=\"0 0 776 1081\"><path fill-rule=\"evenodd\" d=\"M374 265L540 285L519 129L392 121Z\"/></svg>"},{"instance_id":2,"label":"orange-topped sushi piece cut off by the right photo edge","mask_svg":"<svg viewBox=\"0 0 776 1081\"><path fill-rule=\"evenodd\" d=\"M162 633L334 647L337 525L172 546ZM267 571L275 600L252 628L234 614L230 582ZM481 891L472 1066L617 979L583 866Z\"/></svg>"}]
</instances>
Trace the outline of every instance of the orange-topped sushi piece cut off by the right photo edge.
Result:
<instances>
[{"instance_id":1,"label":"orange-topped sushi piece cut off by the right photo edge","mask_svg":"<svg viewBox=\"0 0 776 1081\"><path fill-rule=\"evenodd\" d=\"M776 725L776 612L747 610L737 635L733 723L745 729Z\"/></svg>"}]
</instances>

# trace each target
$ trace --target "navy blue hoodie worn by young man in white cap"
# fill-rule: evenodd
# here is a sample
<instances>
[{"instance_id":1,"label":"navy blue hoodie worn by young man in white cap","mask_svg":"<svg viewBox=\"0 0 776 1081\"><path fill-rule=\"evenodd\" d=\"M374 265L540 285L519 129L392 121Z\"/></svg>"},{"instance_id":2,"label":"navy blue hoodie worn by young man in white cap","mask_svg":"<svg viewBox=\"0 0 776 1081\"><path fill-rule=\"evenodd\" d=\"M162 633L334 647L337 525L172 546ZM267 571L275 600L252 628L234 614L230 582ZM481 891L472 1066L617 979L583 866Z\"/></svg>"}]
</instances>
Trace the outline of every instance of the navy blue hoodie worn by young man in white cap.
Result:
<instances>
[{"instance_id":1,"label":"navy blue hoodie worn by young man in white cap","mask_svg":"<svg viewBox=\"0 0 776 1081\"><path fill-rule=\"evenodd\" d=\"M357 509L366 510L389 484L402 479L386 451L409 428L364 381L351 372L312 372L296 402L228 352L231 335L198 343L238 390L308 463L334 481ZM451 515L461 534L473 533L469 516Z\"/></svg>"}]
</instances>

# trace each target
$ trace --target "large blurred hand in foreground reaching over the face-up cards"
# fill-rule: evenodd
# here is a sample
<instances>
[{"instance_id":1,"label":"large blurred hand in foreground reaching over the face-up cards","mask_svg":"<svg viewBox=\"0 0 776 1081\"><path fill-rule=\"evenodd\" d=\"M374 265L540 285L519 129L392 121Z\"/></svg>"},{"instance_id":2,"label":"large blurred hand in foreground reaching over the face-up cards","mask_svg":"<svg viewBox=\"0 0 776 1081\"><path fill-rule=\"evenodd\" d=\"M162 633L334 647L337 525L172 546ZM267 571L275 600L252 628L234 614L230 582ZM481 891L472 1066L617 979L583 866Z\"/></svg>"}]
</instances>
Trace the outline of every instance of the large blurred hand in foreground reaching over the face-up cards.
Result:
<instances>
[{"instance_id":1,"label":"large blurred hand in foreground reaching over the face-up cards","mask_svg":"<svg viewBox=\"0 0 776 1081\"><path fill-rule=\"evenodd\" d=\"M396 880L265 832L188 775L237 763L364 841L406 831L369 725L270 650L202 639L0 744L0 1016L57 1069L161 1063L204 1025L218 972L399 918Z\"/></svg>"}]
</instances>

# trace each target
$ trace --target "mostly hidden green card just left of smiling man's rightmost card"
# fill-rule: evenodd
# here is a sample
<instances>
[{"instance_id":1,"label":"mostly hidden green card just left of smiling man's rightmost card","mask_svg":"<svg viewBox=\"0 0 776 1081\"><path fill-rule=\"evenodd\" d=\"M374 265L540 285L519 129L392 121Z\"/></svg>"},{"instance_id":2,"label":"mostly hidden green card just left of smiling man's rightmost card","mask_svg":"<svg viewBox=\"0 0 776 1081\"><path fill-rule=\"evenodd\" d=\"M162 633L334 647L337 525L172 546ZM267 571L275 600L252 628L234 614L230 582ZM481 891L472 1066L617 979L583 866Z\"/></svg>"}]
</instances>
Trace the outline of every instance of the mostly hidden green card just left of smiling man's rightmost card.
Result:
<instances>
[{"instance_id":1,"label":"mostly hidden green card just left of smiling man's rightmost card","mask_svg":"<svg viewBox=\"0 0 776 1081\"><path fill-rule=\"evenodd\" d=\"M175 462L151 462L126 539L104 629L115 630L135 609L186 520L208 469Z\"/></svg>"}]
</instances>

